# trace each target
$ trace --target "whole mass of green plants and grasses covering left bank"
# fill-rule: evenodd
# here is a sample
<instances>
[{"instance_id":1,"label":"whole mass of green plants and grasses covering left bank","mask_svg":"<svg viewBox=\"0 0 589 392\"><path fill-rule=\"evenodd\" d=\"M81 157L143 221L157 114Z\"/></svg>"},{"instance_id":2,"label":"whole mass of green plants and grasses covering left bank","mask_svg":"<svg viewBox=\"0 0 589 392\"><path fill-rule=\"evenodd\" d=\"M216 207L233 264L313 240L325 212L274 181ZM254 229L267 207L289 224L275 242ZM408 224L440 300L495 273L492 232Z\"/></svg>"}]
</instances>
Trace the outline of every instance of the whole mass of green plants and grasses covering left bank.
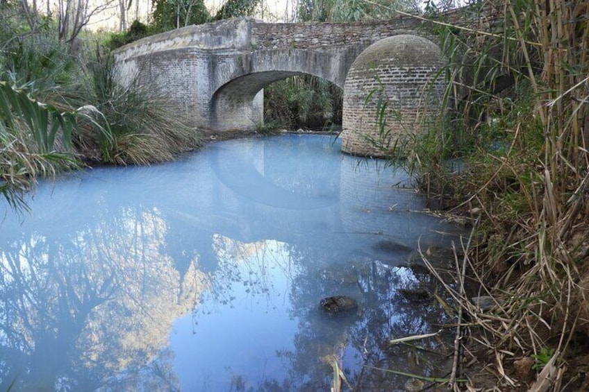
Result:
<instances>
[{"instance_id":1,"label":"whole mass of green plants and grasses covering left bank","mask_svg":"<svg viewBox=\"0 0 589 392\"><path fill-rule=\"evenodd\" d=\"M193 149L199 138L162 100L123 88L97 48L71 56L52 28L29 31L0 12L0 194L17 210L39 177L83 160L149 164ZM146 33L138 22L128 37Z\"/></svg>"}]
</instances>

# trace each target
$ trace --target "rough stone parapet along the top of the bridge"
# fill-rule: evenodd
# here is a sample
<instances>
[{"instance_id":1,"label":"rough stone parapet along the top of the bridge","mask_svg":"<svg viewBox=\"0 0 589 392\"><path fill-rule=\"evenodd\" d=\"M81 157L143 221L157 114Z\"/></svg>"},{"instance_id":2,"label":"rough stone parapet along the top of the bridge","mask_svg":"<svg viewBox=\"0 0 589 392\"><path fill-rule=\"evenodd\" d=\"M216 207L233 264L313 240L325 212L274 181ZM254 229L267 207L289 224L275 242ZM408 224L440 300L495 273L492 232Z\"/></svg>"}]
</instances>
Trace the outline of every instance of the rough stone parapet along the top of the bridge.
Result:
<instances>
[{"instance_id":1,"label":"rough stone parapet along the top of the bridge","mask_svg":"<svg viewBox=\"0 0 589 392\"><path fill-rule=\"evenodd\" d=\"M202 50L320 49L361 44L368 46L392 35L415 33L424 23L398 17L354 23L266 23L251 17L177 28L142 38L115 51L117 62L158 51L194 47ZM422 31L420 35L428 35Z\"/></svg>"}]
</instances>

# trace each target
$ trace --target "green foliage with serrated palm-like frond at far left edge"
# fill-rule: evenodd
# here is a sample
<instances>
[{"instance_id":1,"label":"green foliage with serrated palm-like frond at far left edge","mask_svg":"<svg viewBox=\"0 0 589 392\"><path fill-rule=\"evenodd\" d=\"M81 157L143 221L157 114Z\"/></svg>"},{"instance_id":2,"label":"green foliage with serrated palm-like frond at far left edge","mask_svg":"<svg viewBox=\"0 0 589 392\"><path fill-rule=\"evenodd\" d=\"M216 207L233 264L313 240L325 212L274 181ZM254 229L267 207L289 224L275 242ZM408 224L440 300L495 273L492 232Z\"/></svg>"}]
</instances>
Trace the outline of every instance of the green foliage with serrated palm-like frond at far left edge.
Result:
<instances>
[{"instance_id":1,"label":"green foliage with serrated palm-like frond at far left edge","mask_svg":"<svg viewBox=\"0 0 589 392\"><path fill-rule=\"evenodd\" d=\"M75 114L49 101L78 67L47 28L49 19L33 34L13 11L0 10L0 194L20 211L39 177L78 165Z\"/></svg>"}]
</instances>

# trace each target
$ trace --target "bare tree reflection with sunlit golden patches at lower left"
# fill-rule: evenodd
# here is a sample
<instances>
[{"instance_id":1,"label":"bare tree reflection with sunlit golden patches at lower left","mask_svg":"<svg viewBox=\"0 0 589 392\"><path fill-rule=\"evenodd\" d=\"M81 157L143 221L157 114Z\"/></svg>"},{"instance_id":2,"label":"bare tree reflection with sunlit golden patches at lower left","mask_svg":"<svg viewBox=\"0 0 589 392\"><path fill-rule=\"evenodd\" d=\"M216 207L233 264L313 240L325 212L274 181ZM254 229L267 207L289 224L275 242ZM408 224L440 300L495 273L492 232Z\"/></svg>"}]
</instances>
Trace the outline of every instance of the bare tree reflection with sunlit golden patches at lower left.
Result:
<instances>
[{"instance_id":1,"label":"bare tree reflection with sunlit golden patches at lower left","mask_svg":"<svg viewBox=\"0 0 589 392\"><path fill-rule=\"evenodd\" d=\"M149 377L140 369L174 318L192 308L201 274L192 263L180 280L173 260L160 255L166 227L157 213L121 207L106 216L1 244L0 390L13 382L17 390L173 382L160 371L169 367L165 357Z\"/></svg>"}]
</instances>

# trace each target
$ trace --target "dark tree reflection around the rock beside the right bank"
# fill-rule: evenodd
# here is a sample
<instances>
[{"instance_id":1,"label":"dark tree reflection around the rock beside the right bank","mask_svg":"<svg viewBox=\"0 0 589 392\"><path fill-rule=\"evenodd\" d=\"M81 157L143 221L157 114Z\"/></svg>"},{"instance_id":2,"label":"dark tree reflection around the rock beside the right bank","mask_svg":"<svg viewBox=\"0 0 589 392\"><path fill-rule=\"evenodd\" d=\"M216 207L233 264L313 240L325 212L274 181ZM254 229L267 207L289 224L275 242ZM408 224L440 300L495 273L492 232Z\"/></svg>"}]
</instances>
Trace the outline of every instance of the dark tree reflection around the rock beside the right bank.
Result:
<instances>
[{"instance_id":1,"label":"dark tree reflection around the rock beside the right bank","mask_svg":"<svg viewBox=\"0 0 589 392\"><path fill-rule=\"evenodd\" d=\"M423 269L413 268L414 273L408 267L392 268L368 257L346 260L331 249L291 246L289 251L297 269L290 300L299 328L294 350L276 353L288 368L288 378L265 380L256 390L329 390L333 360L344 369L354 389L360 391L401 388L407 379L374 368L432 377L445 375L447 351L438 336L417 341L415 346L388 343L390 339L440 329L447 317L433 299L415 303L396 291L423 287L433 290L433 276ZM320 299L334 294L356 298L358 314L333 318L322 314ZM448 332L446 341L450 335Z\"/></svg>"}]
</instances>

